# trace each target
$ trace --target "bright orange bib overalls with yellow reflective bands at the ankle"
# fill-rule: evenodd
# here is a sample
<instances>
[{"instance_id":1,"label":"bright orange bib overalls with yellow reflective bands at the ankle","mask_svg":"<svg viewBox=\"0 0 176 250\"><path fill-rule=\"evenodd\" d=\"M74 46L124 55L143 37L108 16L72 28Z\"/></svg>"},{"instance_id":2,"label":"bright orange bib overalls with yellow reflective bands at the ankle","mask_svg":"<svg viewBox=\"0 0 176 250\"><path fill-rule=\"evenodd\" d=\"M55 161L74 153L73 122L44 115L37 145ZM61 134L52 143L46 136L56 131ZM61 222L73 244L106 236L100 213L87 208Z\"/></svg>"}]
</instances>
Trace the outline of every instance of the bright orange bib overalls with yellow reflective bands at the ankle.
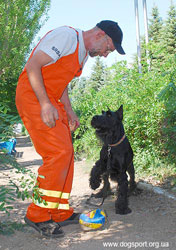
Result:
<instances>
[{"instance_id":1,"label":"bright orange bib overalls with yellow reflective bands at the ankle","mask_svg":"<svg viewBox=\"0 0 176 250\"><path fill-rule=\"evenodd\" d=\"M26 214L27 218L35 223L50 219L60 222L73 214L73 208L69 206L68 199L72 188L74 152L67 114L59 99L68 83L82 73L78 48L77 40L77 48L73 54L63 56L55 63L42 67L48 97L59 113L59 120L56 121L55 127L49 128L43 123L40 104L32 90L25 68L17 85L18 112L36 151L43 159L43 165L38 169L37 183L42 199L47 202L47 205L33 199ZM34 51L35 48L30 58Z\"/></svg>"}]
</instances>

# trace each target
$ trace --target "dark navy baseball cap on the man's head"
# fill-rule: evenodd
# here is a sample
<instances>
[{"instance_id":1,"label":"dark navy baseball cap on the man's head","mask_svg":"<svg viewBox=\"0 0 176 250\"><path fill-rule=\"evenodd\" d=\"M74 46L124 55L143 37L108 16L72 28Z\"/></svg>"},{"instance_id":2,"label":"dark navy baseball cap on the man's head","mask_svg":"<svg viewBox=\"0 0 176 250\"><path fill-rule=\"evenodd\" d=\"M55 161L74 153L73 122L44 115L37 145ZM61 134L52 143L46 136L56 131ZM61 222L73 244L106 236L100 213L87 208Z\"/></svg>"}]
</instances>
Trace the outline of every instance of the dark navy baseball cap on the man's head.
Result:
<instances>
[{"instance_id":1,"label":"dark navy baseball cap on the man's head","mask_svg":"<svg viewBox=\"0 0 176 250\"><path fill-rule=\"evenodd\" d=\"M100 23L97 23L96 26L103 30L112 39L114 47L119 52L119 54L125 55L125 52L121 46L123 33L118 23L110 20L104 20Z\"/></svg>"}]
</instances>

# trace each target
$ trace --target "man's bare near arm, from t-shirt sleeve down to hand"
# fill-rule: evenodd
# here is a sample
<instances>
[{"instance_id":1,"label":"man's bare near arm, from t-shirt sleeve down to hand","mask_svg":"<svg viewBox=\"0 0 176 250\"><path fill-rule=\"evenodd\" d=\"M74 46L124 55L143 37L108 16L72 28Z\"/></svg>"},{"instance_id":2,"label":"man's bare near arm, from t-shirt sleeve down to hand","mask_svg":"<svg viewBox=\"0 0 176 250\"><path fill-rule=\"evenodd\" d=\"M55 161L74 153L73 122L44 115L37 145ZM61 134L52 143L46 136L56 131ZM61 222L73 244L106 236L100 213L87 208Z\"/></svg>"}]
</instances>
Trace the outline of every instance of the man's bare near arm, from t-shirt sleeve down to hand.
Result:
<instances>
[{"instance_id":1,"label":"man's bare near arm, from t-shirt sleeve down to hand","mask_svg":"<svg viewBox=\"0 0 176 250\"><path fill-rule=\"evenodd\" d=\"M30 84L41 106L42 121L51 128L55 126L55 121L59 119L59 115L46 93L41 69L52 61L53 59L50 56L40 50L26 64Z\"/></svg>"}]
</instances>

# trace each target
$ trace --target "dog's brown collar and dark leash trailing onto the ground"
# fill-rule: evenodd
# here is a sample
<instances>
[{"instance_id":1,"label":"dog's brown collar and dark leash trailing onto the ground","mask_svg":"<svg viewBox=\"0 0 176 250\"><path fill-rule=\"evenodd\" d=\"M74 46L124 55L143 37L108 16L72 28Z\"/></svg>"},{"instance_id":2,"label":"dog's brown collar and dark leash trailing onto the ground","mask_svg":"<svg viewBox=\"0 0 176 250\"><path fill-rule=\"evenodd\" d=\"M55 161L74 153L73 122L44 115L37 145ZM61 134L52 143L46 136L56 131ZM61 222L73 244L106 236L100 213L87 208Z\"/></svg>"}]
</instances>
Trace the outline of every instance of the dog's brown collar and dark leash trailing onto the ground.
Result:
<instances>
[{"instance_id":1,"label":"dog's brown collar and dark leash trailing onto the ground","mask_svg":"<svg viewBox=\"0 0 176 250\"><path fill-rule=\"evenodd\" d=\"M116 147L119 144L121 144L124 141L125 137L126 137L126 135L124 134L123 137L117 143L115 143L115 144L108 144L108 160L107 160L107 172L106 172L107 177L109 177L109 171L110 171L110 168L111 168L111 148L112 147ZM93 193L86 200L86 204L91 205L91 206L95 206L95 207L101 207L103 205L105 199L106 199L105 195L103 194L102 202L97 205L97 204L91 203L92 197L94 197Z\"/></svg>"}]
</instances>

